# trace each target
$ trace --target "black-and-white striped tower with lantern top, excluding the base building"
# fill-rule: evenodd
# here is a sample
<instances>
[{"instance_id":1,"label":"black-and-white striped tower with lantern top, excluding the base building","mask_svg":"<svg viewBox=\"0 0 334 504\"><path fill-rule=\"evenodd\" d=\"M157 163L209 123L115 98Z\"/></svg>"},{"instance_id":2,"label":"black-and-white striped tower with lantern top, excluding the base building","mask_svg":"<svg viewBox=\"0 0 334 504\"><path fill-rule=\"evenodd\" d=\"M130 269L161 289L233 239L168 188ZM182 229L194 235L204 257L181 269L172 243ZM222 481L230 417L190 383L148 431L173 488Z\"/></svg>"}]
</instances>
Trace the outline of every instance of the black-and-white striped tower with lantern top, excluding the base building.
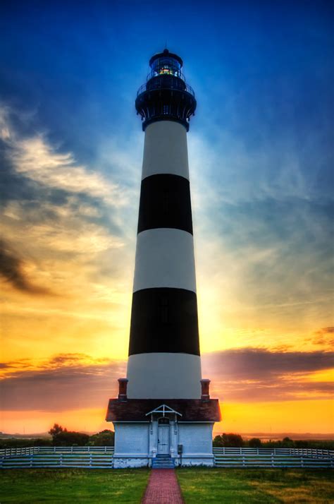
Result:
<instances>
[{"instance_id":1,"label":"black-and-white striped tower with lantern top, excluding the base building","mask_svg":"<svg viewBox=\"0 0 334 504\"><path fill-rule=\"evenodd\" d=\"M187 131L196 109L165 49L137 93L144 160L133 284L128 398L199 399L201 363Z\"/></svg>"}]
</instances>

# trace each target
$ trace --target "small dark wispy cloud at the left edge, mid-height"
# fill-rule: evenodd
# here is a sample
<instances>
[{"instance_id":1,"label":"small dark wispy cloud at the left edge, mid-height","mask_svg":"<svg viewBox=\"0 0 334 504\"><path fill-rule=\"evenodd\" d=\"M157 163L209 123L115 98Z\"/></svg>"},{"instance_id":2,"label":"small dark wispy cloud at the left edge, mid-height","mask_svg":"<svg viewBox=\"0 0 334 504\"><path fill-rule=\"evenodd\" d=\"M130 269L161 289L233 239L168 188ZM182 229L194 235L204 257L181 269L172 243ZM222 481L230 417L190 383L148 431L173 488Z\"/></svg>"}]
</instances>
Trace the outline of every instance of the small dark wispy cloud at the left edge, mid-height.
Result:
<instances>
[{"instance_id":1,"label":"small dark wispy cloud at the left edge, mid-height","mask_svg":"<svg viewBox=\"0 0 334 504\"><path fill-rule=\"evenodd\" d=\"M0 240L0 275L15 289L27 294L52 294L50 289L33 284L24 271L24 262Z\"/></svg>"}]
</instances>

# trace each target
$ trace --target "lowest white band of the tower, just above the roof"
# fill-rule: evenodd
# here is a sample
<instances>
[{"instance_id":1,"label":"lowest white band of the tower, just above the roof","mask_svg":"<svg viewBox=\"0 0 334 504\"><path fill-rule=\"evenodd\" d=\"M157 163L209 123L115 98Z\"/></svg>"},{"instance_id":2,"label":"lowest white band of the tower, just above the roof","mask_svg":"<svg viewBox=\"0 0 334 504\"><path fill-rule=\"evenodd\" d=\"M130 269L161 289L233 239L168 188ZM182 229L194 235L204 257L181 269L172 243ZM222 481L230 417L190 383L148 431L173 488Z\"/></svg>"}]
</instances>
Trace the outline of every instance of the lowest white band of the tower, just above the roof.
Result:
<instances>
[{"instance_id":1,"label":"lowest white band of the tower, just above the roof","mask_svg":"<svg viewBox=\"0 0 334 504\"><path fill-rule=\"evenodd\" d=\"M127 378L129 399L201 397L201 359L198 355L162 352L130 355Z\"/></svg>"}]
</instances>

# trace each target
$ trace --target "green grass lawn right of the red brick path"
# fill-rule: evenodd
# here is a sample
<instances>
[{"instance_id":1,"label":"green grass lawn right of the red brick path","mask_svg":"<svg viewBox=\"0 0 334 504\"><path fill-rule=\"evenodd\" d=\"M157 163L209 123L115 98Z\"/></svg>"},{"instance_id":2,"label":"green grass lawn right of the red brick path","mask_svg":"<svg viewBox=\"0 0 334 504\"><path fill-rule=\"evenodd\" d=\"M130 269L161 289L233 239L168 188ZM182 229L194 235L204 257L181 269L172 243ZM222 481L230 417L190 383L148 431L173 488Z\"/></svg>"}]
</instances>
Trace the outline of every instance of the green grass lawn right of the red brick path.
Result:
<instances>
[{"instance_id":1,"label":"green grass lawn right of the red brick path","mask_svg":"<svg viewBox=\"0 0 334 504\"><path fill-rule=\"evenodd\" d=\"M186 504L334 503L330 469L179 469Z\"/></svg>"}]
</instances>

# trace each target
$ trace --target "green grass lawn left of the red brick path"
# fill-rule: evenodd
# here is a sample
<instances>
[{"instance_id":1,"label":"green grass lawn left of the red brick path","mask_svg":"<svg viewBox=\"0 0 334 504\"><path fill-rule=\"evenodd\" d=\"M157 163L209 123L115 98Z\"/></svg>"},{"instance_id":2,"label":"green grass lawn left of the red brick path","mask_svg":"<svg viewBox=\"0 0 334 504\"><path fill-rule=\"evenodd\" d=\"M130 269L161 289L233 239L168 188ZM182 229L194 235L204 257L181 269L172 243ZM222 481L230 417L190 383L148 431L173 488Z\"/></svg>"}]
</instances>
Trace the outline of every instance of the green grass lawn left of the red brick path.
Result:
<instances>
[{"instance_id":1,"label":"green grass lawn left of the red brick path","mask_svg":"<svg viewBox=\"0 0 334 504\"><path fill-rule=\"evenodd\" d=\"M149 469L4 469L0 503L139 504Z\"/></svg>"}]
</instances>

